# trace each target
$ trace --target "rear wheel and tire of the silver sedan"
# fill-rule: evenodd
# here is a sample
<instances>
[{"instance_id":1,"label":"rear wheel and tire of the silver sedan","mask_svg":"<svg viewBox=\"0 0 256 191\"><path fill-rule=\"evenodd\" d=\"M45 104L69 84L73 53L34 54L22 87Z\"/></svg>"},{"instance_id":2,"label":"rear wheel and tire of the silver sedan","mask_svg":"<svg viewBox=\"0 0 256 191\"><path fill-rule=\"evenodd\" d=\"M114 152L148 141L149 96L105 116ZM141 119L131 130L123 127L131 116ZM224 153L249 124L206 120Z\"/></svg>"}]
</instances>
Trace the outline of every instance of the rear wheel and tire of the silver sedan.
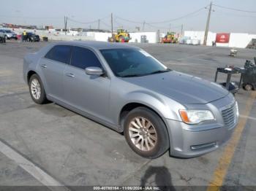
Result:
<instances>
[{"instance_id":1,"label":"rear wheel and tire of the silver sedan","mask_svg":"<svg viewBox=\"0 0 256 191\"><path fill-rule=\"evenodd\" d=\"M47 102L45 89L37 74L33 74L29 79L29 93L35 103L45 104Z\"/></svg>"}]
</instances>

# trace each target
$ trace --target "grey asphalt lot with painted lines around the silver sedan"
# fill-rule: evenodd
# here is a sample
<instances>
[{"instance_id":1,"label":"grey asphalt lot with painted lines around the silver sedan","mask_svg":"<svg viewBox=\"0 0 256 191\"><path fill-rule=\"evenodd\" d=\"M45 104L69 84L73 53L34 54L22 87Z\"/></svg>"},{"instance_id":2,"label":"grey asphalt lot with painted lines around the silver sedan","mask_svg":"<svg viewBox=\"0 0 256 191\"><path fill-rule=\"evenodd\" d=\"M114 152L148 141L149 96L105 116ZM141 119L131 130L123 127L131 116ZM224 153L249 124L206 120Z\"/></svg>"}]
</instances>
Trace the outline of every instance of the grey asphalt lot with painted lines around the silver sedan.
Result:
<instances>
[{"instance_id":1,"label":"grey asphalt lot with painted lines around the silver sedan","mask_svg":"<svg viewBox=\"0 0 256 191\"><path fill-rule=\"evenodd\" d=\"M8 148L0 148L0 185L43 185L49 178L69 186L146 184L206 190L212 183L255 189L255 92L240 90L236 95L241 117L226 147L192 159L169 157L167 152L147 160L132 152L121 134L56 104L31 101L22 77L23 56L46 43L0 44L0 143ZM243 66L256 56L255 50L238 50L237 58L231 58L230 50L220 47L133 45L171 69L211 81L218 66ZM33 171L36 167L40 171Z\"/></svg>"}]
</instances>

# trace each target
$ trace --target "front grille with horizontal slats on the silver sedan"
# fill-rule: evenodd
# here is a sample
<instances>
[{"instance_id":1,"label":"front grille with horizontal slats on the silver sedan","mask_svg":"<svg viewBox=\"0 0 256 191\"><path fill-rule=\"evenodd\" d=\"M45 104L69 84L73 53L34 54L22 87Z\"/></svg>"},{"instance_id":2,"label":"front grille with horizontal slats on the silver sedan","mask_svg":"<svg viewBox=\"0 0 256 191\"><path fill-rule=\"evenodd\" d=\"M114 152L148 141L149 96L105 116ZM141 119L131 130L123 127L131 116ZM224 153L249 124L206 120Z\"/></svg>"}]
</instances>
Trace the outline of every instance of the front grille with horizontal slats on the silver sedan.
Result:
<instances>
[{"instance_id":1,"label":"front grille with horizontal slats on the silver sedan","mask_svg":"<svg viewBox=\"0 0 256 191\"><path fill-rule=\"evenodd\" d=\"M222 110L222 117L227 128L233 128L237 122L237 107L236 104Z\"/></svg>"}]
</instances>

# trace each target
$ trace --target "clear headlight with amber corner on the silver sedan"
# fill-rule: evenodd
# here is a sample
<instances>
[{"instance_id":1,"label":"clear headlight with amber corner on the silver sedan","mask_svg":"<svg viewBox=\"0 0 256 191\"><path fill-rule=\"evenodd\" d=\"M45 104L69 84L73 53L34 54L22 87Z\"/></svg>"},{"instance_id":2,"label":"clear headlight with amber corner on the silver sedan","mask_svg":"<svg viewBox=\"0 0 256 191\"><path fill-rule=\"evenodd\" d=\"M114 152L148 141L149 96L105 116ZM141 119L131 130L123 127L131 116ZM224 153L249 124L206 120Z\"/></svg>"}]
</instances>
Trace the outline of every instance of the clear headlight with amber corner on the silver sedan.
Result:
<instances>
[{"instance_id":1,"label":"clear headlight with amber corner on the silver sedan","mask_svg":"<svg viewBox=\"0 0 256 191\"><path fill-rule=\"evenodd\" d=\"M209 110L200 109L180 109L179 114L183 122L188 124L197 124L202 121L214 120L214 114Z\"/></svg>"}]
</instances>

